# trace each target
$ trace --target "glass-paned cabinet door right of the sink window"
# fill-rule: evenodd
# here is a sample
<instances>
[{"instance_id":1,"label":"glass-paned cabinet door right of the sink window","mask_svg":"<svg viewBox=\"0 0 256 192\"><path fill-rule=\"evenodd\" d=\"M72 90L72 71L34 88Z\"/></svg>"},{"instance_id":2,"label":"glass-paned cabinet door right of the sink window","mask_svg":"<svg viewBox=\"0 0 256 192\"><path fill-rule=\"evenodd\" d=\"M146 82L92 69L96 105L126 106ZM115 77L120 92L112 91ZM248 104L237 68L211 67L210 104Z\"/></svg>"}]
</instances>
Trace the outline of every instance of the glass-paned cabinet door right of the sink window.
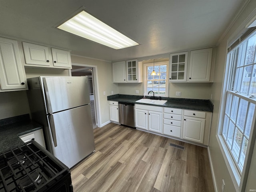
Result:
<instances>
[{"instance_id":1,"label":"glass-paned cabinet door right of the sink window","mask_svg":"<svg viewBox=\"0 0 256 192\"><path fill-rule=\"evenodd\" d=\"M170 54L169 82L186 81L188 52Z\"/></svg>"}]
</instances>

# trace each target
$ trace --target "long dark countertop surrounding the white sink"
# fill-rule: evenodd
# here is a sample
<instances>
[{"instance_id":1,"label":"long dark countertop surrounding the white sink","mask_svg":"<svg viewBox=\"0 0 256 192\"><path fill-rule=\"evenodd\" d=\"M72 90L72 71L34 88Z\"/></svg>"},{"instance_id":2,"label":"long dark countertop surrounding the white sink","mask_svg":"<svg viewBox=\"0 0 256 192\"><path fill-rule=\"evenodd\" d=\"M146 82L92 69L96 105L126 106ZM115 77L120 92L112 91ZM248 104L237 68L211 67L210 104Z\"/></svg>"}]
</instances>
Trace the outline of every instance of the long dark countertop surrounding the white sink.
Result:
<instances>
[{"instance_id":1,"label":"long dark countertop surrounding the white sink","mask_svg":"<svg viewBox=\"0 0 256 192\"><path fill-rule=\"evenodd\" d=\"M118 102L127 102L127 103L136 103L136 104L143 104L143 105L152 105L152 106L163 106L163 107L172 107L172 108L181 108L181 109L189 109L189 110L198 110L198 111L213 111L213 104L210 100L202 100L202 99L184 99L184 98L166 98L162 97L162 100L168 100L163 105L156 105L156 104L145 104L136 102L143 98L143 96L136 96L136 95L123 95L123 94L116 94L107 97L108 100L111 101L118 101ZM146 96L146 98L150 98Z\"/></svg>"}]
</instances>

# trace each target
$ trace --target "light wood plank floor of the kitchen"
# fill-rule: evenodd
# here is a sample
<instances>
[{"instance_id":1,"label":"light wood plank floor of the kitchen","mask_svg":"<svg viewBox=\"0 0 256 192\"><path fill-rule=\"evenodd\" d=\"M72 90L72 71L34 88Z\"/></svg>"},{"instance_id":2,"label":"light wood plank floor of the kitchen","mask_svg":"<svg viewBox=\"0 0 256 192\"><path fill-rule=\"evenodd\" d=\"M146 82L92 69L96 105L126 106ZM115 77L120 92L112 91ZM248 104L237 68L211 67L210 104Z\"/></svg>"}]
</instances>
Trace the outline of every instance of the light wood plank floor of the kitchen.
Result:
<instances>
[{"instance_id":1,"label":"light wood plank floor of the kitchen","mask_svg":"<svg viewBox=\"0 0 256 192\"><path fill-rule=\"evenodd\" d=\"M74 192L214 192L206 148L113 123L94 138L95 153L71 169Z\"/></svg>"}]
</instances>

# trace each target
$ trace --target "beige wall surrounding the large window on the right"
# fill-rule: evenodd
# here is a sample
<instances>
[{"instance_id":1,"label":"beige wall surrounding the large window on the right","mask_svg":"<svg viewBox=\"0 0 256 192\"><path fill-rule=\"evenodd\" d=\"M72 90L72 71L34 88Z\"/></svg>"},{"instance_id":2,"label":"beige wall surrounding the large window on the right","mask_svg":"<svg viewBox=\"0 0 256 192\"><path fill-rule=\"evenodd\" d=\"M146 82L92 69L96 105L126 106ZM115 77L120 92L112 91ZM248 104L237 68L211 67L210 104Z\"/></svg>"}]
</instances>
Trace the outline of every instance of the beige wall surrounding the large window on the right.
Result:
<instances>
[{"instance_id":1,"label":"beige wall surrounding the large window on the right","mask_svg":"<svg viewBox=\"0 0 256 192\"><path fill-rule=\"evenodd\" d=\"M218 117L220 110L220 100L221 100L221 92L222 92L222 83L224 78L224 69L226 65L226 48L228 39L233 36L238 27L246 20L246 18L250 15L250 13L256 8L256 1L250 1L250 3L243 10L242 14L238 17L236 22L232 25L228 33L221 40L218 48L217 48L217 56L216 56L216 65L214 72L214 83L212 84L213 98L212 102L214 104L214 110L212 115L212 127L210 134L210 144L209 144L209 152L212 162L212 168L215 174L216 185L218 191L221 192L222 179L225 181L225 192L234 192L235 187L232 182L231 176L228 172L228 168L222 156L222 152L220 150L219 144L216 139L217 129L218 129ZM243 24L244 25L244 24ZM254 157L256 156L256 149L254 148ZM250 170L249 179L246 184L246 192L249 192L249 189L256 189L256 161L255 158L252 160L251 168L254 170Z\"/></svg>"}]
</instances>

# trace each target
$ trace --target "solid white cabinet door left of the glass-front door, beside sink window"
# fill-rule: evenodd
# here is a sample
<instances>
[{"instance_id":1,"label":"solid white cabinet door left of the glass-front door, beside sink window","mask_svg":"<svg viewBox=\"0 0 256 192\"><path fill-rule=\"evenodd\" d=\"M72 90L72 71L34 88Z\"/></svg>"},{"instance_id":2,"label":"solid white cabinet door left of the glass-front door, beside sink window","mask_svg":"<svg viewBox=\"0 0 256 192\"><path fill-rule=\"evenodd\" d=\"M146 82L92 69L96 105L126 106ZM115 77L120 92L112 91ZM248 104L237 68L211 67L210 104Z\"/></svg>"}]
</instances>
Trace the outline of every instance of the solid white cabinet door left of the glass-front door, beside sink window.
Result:
<instances>
[{"instance_id":1,"label":"solid white cabinet door left of the glass-front door, beside sink window","mask_svg":"<svg viewBox=\"0 0 256 192\"><path fill-rule=\"evenodd\" d=\"M113 83L126 83L126 63L125 61L112 63Z\"/></svg>"}]
</instances>

